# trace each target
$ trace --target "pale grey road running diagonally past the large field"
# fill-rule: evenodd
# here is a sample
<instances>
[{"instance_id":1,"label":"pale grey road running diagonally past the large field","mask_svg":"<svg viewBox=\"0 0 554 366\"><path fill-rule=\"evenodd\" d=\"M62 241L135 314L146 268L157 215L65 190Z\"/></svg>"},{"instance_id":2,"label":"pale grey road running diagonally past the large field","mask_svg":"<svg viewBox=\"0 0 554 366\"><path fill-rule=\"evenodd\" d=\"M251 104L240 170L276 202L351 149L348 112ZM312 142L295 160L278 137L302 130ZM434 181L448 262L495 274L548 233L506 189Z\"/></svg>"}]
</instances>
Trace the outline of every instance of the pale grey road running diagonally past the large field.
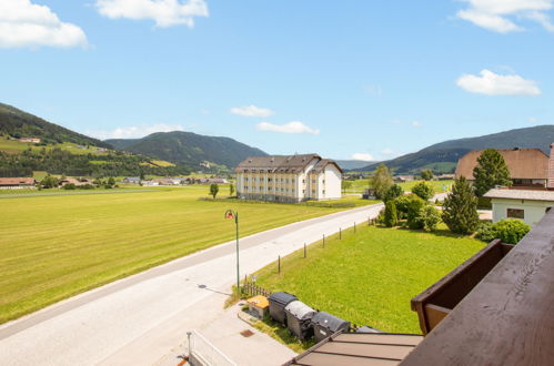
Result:
<instances>
[{"instance_id":1,"label":"pale grey road running diagonally past the large field","mask_svg":"<svg viewBox=\"0 0 554 366\"><path fill-rule=\"evenodd\" d=\"M366 225L382 206L241 238L241 277L323 234ZM155 364L182 344L187 331L210 324L223 312L222 301L236 281L234 253L234 241L220 244L3 324L0 365Z\"/></svg>"}]
</instances>

